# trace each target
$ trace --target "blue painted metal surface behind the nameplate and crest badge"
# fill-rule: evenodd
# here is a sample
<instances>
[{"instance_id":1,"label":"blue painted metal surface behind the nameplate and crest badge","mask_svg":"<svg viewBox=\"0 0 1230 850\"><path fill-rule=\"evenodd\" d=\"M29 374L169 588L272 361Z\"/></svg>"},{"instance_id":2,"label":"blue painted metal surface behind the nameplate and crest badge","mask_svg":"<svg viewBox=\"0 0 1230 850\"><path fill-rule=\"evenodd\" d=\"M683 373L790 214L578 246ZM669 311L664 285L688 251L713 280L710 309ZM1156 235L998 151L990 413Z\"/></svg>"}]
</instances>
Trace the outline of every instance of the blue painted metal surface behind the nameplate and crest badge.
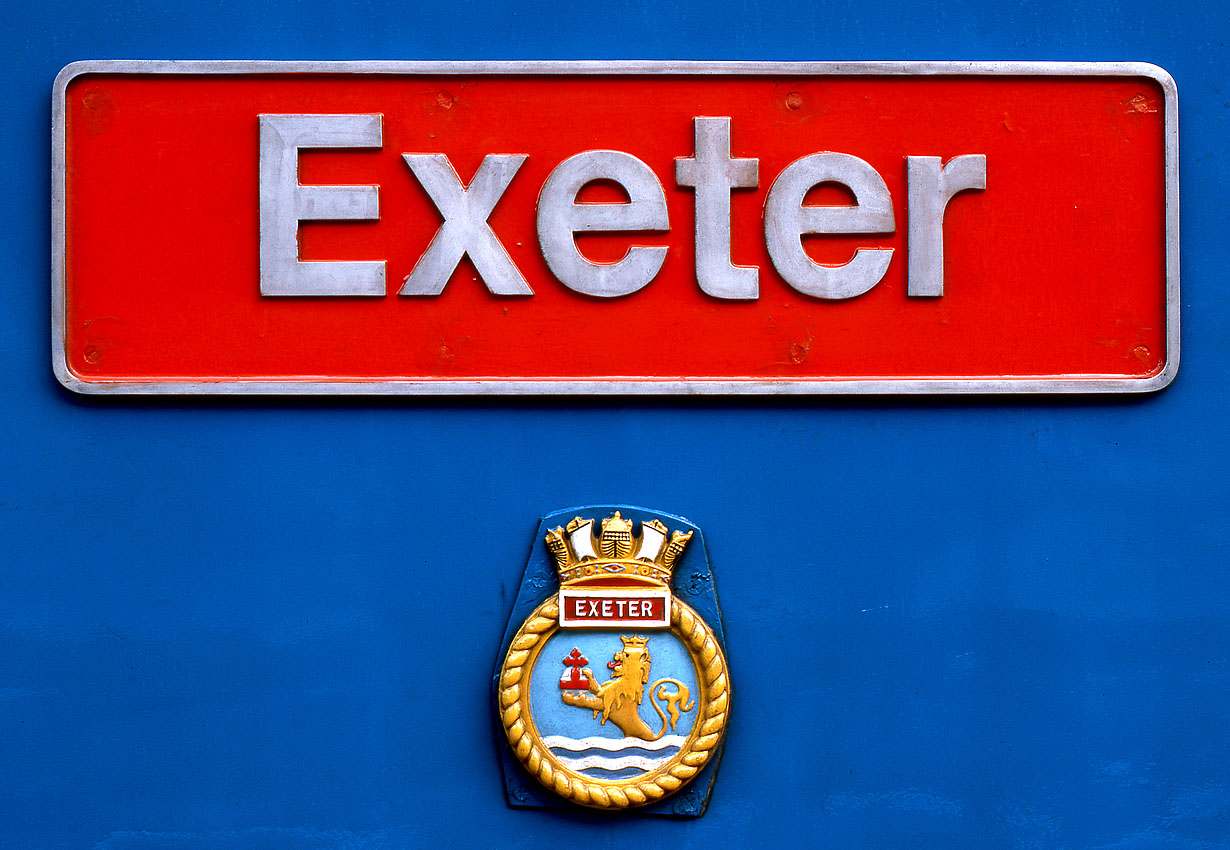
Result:
<instances>
[{"instance_id":1,"label":"blue painted metal surface behind the nameplate and crest badge","mask_svg":"<svg viewBox=\"0 0 1230 850\"><path fill-rule=\"evenodd\" d=\"M5 18L0 845L1230 845L1224 2ZM50 84L144 57L1155 62L1183 367L1144 399L73 397L47 354ZM578 475L561 447L657 465ZM526 538L608 501L692 518L721 577L738 702L700 819L503 801L490 670Z\"/></svg>"}]
</instances>

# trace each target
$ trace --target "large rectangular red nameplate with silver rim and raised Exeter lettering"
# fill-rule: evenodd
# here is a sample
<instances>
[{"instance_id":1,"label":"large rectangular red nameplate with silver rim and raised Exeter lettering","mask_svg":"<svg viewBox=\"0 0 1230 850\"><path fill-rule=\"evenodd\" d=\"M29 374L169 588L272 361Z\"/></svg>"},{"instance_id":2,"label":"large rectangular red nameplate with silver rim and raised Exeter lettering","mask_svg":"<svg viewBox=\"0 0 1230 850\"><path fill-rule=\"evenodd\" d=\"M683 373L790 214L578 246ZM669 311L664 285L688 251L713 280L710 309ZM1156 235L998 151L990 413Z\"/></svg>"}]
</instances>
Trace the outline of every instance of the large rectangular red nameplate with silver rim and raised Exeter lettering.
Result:
<instances>
[{"instance_id":1,"label":"large rectangular red nameplate with silver rim and raised Exeter lettering","mask_svg":"<svg viewBox=\"0 0 1230 850\"><path fill-rule=\"evenodd\" d=\"M1144 64L76 63L53 363L81 392L1156 390L1177 157Z\"/></svg>"}]
</instances>

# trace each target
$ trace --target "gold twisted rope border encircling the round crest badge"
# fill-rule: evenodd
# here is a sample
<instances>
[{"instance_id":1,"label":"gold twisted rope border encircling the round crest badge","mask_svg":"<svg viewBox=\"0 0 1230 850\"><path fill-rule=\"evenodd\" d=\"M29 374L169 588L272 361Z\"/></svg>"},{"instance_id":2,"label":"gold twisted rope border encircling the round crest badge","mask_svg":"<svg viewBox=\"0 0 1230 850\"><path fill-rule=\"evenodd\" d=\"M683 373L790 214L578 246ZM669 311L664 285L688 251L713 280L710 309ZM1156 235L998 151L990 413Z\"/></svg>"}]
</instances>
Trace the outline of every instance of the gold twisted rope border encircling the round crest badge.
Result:
<instances>
[{"instance_id":1,"label":"gold twisted rope border encircling the round crest badge","mask_svg":"<svg viewBox=\"0 0 1230 850\"><path fill-rule=\"evenodd\" d=\"M718 646L717 638L713 637L708 624L691 608L672 597L672 631L681 637L692 651L694 658L700 662L697 672L704 678L700 686L706 696L705 716L696 718L700 733L672 757L672 763L675 763L673 768L659 768L661 775L651 774L652 779L621 784L616 787L590 782L576 775L568 776L569 771L556 761L555 757L541 745L541 738L538 733L531 734L526 726L529 717L524 716L522 705L524 667L535 654L535 647L544 640L542 636L555 631L558 626L558 594L555 594L534 609L534 613L522 624L508 647L508 656L499 672L501 721L513 753L525 765L525 769L539 782L561 797L582 806L606 809L652 803L676 791L700 773L722 741L731 701L726 658L722 657L722 648Z\"/></svg>"}]
</instances>

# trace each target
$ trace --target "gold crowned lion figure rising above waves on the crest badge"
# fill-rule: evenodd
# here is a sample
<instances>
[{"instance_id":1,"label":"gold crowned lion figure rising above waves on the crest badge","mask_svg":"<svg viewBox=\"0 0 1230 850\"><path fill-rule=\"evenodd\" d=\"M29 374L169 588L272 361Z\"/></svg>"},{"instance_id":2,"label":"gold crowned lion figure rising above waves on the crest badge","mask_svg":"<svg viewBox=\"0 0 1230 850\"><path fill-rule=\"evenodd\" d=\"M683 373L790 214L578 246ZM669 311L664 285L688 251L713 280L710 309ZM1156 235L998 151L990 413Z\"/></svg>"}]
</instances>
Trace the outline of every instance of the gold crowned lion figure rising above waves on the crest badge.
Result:
<instances>
[{"instance_id":1,"label":"gold crowned lion figure rising above waves on the crest badge","mask_svg":"<svg viewBox=\"0 0 1230 850\"><path fill-rule=\"evenodd\" d=\"M589 693L566 690L561 694L561 699L566 705L592 710L595 718L598 712L601 712L603 725L605 726L609 720L627 738L657 741L667 733L668 727L673 732L679 722L679 712L691 711L695 702L689 699L688 685L678 679L658 679L649 685L649 705L662 718L662 728L654 734L649 725L641 720L640 713L652 662L648 638L620 636L620 640L624 642L624 649L616 652L606 664L611 672L610 681L599 685L587 667L581 674L589 683ZM668 690L667 685L674 685L674 690ZM667 706L665 711L658 705L659 701Z\"/></svg>"}]
</instances>

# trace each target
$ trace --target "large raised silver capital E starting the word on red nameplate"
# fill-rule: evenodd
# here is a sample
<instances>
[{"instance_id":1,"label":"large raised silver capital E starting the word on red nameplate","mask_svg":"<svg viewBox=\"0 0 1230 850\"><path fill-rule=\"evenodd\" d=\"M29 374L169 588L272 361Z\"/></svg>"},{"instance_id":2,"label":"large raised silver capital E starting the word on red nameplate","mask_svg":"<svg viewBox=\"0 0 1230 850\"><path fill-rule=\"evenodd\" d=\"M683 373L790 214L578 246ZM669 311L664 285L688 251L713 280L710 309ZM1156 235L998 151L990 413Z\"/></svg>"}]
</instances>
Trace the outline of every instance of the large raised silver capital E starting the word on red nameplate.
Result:
<instances>
[{"instance_id":1,"label":"large raised silver capital E starting the word on red nameplate","mask_svg":"<svg viewBox=\"0 0 1230 850\"><path fill-rule=\"evenodd\" d=\"M376 186L300 186L301 148L379 148L380 116L261 116L261 294L384 295L385 263L300 262L299 223L379 219Z\"/></svg>"}]
</instances>

